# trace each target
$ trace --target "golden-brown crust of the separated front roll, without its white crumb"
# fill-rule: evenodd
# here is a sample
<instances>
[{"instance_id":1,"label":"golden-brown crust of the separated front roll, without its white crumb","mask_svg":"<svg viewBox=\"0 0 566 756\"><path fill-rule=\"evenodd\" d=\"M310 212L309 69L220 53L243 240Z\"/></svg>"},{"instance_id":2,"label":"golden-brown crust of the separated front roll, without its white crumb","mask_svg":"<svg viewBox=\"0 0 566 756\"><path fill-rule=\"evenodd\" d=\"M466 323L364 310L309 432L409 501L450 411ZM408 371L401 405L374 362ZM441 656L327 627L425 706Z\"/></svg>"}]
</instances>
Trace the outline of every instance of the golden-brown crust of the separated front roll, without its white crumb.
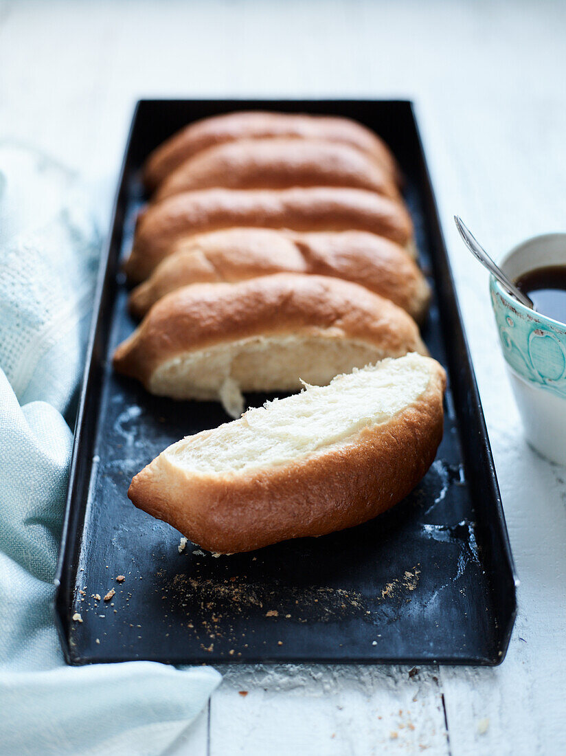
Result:
<instances>
[{"instance_id":1,"label":"golden-brown crust of the separated front roll, without its white crumb","mask_svg":"<svg viewBox=\"0 0 566 756\"><path fill-rule=\"evenodd\" d=\"M293 463L230 475L190 474L161 454L128 497L201 547L237 553L360 525L403 499L435 458L445 374L431 360L419 399L388 423Z\"/></svg>"}]
</instances>

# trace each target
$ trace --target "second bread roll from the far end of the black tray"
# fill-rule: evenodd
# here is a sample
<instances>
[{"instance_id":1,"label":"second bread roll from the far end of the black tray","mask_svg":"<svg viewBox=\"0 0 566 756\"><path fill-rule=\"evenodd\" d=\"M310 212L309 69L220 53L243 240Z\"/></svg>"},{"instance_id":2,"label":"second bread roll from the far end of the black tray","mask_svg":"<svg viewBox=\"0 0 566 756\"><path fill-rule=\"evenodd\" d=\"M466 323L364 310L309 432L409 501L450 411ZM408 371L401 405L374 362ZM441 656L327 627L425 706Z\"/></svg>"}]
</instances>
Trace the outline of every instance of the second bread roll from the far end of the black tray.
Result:
<instances>
[{"instance_id":1,"label":"second bread roll from the far end of the black tray","mask_svg":"<svg viewBox=\"0 0 566 756\"><path fill-rule=\"evenodd\" d=\"M154 199L196 189L354 187L399 199L391 175L349 144L314 139L243 139L209 147L170 173Z\"/></svg>"}]
</instances>

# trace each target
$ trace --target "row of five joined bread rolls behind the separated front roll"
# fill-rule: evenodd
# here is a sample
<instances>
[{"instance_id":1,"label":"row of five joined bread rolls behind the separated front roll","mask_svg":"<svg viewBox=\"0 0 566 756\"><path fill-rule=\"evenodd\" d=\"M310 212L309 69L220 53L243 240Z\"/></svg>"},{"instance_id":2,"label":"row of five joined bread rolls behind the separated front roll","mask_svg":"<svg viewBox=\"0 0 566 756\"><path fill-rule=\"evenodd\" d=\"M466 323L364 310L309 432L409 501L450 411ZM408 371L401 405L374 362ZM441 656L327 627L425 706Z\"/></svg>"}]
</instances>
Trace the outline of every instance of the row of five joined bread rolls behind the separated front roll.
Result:
<instances>
[{"instance_id":1,"label":"row of five joined bread rolls behind the separated front roll","mask_svg":"<svg viewBox=\"0 0 566 756\"><path fill-rule=\"evenodd\" d=\"M385 357L426 354L430 290L391 151L334 116L193 122L147 159L125 262L143 318L114 366L154 394L289 392Z\"/></svg>"}]
</instances>

